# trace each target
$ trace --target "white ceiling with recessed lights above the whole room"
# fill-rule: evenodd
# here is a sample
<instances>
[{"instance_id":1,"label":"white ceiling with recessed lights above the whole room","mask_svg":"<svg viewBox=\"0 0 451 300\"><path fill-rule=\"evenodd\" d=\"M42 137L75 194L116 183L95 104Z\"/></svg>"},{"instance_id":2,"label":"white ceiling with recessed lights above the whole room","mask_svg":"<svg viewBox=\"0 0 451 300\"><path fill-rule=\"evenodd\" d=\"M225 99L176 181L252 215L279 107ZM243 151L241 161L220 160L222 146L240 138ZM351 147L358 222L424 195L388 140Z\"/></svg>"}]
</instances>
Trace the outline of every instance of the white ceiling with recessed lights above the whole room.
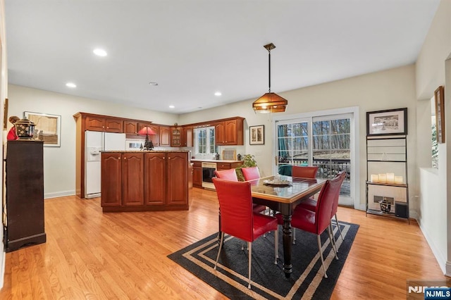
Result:
<instances>
[{"instance_id":1,"label":"white ceiling with recessed lights above the whole room","mask_svg":"<svg viewBox=\"0 0 451 300\"><path fill-rule=\"evenodd\" d=\"M414 63L438 3L6 0L8 80L155 111L199 111L267 92L270 42L276 93ZM96 47L109 55L95 56Z\"/></svg>"}]
</instances>

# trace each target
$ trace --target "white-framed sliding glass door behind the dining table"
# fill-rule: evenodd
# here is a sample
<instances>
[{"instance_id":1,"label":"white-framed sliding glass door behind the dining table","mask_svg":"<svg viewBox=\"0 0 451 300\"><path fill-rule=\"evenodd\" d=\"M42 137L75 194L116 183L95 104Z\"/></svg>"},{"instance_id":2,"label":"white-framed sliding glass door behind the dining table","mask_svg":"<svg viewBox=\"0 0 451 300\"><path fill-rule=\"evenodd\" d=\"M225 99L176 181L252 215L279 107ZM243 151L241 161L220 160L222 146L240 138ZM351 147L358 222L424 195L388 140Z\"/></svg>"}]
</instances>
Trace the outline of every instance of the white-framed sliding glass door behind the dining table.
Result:
<instances>
[{"instance_id":1,"label":"white-framed sliding glass door behind the dining table","mask_svg":"<svg viewBox=\"0 0 451 300\"><path fill-rule=\"evenodd\" d=\"M279 170L283 165L317 165L317 177L323 179L345 171L339 203L354 206L352 123L352 113L276 121Z\"/></svg>"}]
</instances>

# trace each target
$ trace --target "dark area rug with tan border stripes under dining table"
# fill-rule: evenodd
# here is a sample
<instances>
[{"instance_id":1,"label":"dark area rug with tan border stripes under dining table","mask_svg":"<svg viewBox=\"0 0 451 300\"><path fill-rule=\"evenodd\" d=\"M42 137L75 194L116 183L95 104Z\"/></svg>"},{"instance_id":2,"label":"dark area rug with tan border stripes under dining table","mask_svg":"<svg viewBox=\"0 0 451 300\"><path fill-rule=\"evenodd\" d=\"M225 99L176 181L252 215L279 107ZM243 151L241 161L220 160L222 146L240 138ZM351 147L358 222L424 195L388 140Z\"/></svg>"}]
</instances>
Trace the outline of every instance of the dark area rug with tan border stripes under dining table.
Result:
<instances>
[{"instance_id":1,"label":"dark area rug with tan border stripes under dining table","mask_svg":"<svg viewBox=\"0 0 451 300\"><path fill-rule=\"evenodd\" d=\"M359 228L351 223L339 224L344 240L338 228L333 226L338 260L334 258L327 232L321 235L328 278L323 277L316 235L302 230L296 230L292 274L290 278L285 277L281 226L277 265L274 264L274 232L259 237L252 244L252 289L247 288L247 246L235 237L226 235L217 270L214 270L218 254L217 233L170 254L168 258L230 299L329 299Z\"/></svg>"}]
</instances>

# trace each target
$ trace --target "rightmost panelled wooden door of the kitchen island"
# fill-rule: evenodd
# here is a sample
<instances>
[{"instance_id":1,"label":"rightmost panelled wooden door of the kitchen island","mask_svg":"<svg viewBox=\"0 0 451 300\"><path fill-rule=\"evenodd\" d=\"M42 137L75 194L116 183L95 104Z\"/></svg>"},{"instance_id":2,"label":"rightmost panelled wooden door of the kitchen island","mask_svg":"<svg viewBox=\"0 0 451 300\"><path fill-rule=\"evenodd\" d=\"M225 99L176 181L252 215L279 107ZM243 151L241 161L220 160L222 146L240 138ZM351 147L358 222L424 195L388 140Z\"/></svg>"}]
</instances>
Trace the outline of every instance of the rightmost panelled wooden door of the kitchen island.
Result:
<instances>
[{"instance_id":1,"label":"rightmost panelled wooden door of the kitchen island","mask_svg":"<svg viewBox=\"0 0 451 300\"><path fill-rule=\"evenodd\" d=\"M180 205L188 203L188 154L187 152L168 153L168 174L166 177L166 204Z\"/></svg>"}]
</instances>

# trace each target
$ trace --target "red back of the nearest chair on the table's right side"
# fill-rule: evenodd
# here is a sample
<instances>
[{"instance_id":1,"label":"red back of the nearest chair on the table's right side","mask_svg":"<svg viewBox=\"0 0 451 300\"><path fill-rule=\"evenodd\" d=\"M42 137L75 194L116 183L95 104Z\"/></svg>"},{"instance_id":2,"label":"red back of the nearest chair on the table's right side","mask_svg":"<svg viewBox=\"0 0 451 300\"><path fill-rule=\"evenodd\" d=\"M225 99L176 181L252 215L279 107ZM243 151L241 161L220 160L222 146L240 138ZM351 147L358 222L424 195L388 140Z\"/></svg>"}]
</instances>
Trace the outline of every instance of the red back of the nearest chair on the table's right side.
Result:
<instances>
[{"instance_id":1,"label":"red back of the nearest chair on the table's right side","mask_svg":"<svg viewBox=\"0 0 451 300\"><path fill-rule=\"evenodd\" d=\"M340 194L342 177L335 177L333 180L326 181L319 193L316 204L316 232L323 232L330 224L330 213L332 211L335 196ZM338 196L337 196L338 197Z\"/></svg>"}]
</instances>

